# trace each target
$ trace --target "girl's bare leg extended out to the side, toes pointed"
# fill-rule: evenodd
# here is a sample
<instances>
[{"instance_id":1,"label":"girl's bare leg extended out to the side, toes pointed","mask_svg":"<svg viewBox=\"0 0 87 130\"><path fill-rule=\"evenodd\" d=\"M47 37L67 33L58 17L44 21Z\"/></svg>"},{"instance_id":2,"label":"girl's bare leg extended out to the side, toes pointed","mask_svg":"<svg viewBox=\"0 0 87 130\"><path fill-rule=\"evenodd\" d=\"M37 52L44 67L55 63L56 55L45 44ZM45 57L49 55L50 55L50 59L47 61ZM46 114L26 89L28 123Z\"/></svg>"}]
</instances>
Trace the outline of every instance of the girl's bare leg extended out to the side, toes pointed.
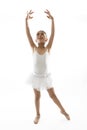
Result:
<instances>
[{"instance_id":1,"label":"girl's bare leg extended out to the side, toes pointed","mask_svg":"<svg viewBox=\"0 0 87 130\"><path fill-rule=\"evenodd\" d=\"M69 115L66 113L66 111L64 110L63 106L61 105L59 99L57 98L55 92L54 92L54 89L53 88L50 88L47 90L48 93L49 93L49 96L51 97L51 99L54 101L54 103L60 108L61 110L61 113L63 115L65 115L65 117L67 118L67 120L70 120L70 117Z\"/></svg>"}]
</instances>

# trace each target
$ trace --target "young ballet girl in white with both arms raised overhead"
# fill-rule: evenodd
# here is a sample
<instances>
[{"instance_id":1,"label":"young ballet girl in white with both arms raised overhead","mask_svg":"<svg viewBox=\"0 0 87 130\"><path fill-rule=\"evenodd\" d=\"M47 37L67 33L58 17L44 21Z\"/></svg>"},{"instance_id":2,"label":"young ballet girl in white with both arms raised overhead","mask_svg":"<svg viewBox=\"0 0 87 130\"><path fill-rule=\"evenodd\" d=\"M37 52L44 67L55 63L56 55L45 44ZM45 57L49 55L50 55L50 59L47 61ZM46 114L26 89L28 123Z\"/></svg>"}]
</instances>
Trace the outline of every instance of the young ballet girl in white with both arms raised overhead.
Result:
<instances>
[{"instance_id":1,"label":"young ballet girl in white with both arms raised overhead","mask_svg":"<svg viewBox=\"0 0 87 130\"><path fill-rule=\"evenodd\" d=\"M34 119L34 123L37 124L40 119L40 90L41 88L45 88L51 97L51 99L54 101L54 103L60 108L60 112L66 117L67 120L70 120L69 114L65 111L63 106L61 105L59 99L57 98L54 88L52 86L52 80L51 75L48 72L48 66L47 66L47 56L49 55L49 52L52 47L53 39L54 39L54 18L51 15L51 13L46 10L44 11L47 14L47 17L51 20L51 35L49 40L47 39L47 35L43 30L40 30L36 34L36 42L38 43L38 46L34 43L30 28L29 28L29 22L30 19L33 17L31 16L34 12L30 10L27 12L27 16L25 19L26 23L26 34L30 43L30 46L33 50L34 55L34 70L32 74L32 86L35 94L35 107L36 107L36 117ZM48 44L45 45L45 43L48 40Z\"/></svg>"}]
</instances>

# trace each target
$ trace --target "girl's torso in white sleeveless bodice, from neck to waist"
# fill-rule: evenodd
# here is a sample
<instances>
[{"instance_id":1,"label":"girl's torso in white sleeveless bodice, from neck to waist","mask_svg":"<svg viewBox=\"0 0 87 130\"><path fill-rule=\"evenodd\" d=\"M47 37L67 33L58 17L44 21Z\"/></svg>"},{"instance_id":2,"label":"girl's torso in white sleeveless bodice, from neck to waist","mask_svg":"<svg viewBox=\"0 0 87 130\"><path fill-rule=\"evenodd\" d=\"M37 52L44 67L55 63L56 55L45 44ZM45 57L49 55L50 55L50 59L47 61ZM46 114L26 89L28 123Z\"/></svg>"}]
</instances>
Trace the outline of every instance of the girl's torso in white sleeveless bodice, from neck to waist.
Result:
<instances>
[{"instance_id":1,"label":"girl's torso in white sleeveless bodice, from neck to waist","mask_svg":"<svg viewBox=\"0 0 87 130\"><path fill-rule=\"evenodd\" d=\"M48 73L48 50L47 48L34 50L34 73L47 74Z\"/></svg>"}]
</instances>

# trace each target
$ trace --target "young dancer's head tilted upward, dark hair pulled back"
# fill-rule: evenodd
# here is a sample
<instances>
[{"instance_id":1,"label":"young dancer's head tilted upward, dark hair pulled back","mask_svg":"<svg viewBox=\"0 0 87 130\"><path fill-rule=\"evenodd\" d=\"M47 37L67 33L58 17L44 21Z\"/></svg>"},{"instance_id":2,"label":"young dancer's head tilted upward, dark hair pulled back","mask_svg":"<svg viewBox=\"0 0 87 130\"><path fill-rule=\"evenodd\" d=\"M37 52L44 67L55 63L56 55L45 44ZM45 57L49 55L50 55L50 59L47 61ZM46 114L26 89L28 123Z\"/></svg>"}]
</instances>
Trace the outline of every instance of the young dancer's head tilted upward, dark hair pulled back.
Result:
<instances>
[{"instance_id":1,"label":"young dancer's head tilted upward, dark hair pulled back","mask_svg":"<svg viewBox=\"0 0 87 130\"><path fill-rule=\"evenodd\" d=\"M46 32L44 32L43 30L40 30L37 32L36 34L36 42L38 44L43 44L45 45L45 42L47 42L47 35L46 35Z\"/></svg>"}]
</instances>

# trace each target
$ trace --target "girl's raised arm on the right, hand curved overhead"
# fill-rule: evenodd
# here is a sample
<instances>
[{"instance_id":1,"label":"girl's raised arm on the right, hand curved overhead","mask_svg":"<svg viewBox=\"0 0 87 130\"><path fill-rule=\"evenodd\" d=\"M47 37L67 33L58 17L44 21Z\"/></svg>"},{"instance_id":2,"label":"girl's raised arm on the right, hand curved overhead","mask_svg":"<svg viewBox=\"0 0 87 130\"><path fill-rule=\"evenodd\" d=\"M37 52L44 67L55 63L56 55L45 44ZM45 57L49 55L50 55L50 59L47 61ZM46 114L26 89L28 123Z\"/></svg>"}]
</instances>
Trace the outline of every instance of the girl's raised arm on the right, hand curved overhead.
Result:
<instances>
[{"instance_id":1,"label":"girl's raised arm on the right, hand curved overhead","mask_svg":"<svg viewBox=\"0 0 87 130\"><path fill-rule=\"evenodd\" d=\"M51 15L51 13L48 10L46 10L45 13L47 14L47 17L49 19L51 19L51 35L50 35L48 45L47 45L48 50L50 50L51 47L52 47L52 43L53 43L53 39L54 39L54 32L55 32L54 18L53 18L53 16Z\"/></svg>"}]
</instances>

